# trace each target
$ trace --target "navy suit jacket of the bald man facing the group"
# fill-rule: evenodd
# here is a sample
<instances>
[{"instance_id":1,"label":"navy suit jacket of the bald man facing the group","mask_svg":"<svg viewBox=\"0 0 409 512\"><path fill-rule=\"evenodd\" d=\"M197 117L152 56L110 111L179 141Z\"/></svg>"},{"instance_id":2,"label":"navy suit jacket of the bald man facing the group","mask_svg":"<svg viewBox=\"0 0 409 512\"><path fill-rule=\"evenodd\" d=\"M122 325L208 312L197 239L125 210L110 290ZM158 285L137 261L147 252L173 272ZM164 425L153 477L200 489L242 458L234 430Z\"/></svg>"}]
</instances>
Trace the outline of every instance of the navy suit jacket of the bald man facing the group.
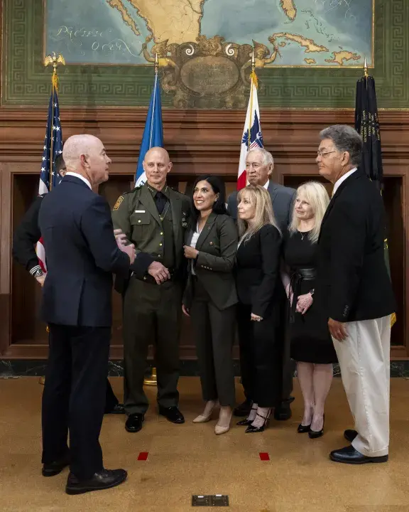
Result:
<instances>
[{"instance_id":1,"label":"navy suit jacket of the bald man facing the group","mask_svg":"<svg viewBox=\"0 0 409 512\"><path fill-rule=\"evenodd\" d=\"M48 270L43 320L111 326L112 272L127 275L129 257L116 245L107 201L79 178L65 176L43 198L38 220Z\"/></svg>"}]
</instances>

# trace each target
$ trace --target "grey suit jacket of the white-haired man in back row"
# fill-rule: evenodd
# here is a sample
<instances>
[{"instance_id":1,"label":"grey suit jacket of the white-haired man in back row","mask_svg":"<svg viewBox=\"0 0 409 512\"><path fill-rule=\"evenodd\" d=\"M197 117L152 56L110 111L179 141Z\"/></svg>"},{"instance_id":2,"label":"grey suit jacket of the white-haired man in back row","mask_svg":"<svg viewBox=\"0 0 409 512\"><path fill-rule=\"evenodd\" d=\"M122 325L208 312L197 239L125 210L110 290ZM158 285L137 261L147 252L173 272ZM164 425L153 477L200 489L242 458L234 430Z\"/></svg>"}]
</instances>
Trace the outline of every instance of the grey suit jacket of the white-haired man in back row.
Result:
<instances>
[{"instance_id":1,"label":"grey suit jacket of the white-haired man in back row","mask_svg":"<svg viewBox=\"0 0 409 512\"><path fill-rule=\"evenodd\" d=\"M278 227L281 233L285 233L291 222L293 215L293 203L295 199L295 189L279 185L270 180L268 183L268 192L270 193L273 211L276 217ZM237 192L230 194L227 200L227 210L231 217L237 218Z\"/></svg>"}]
</instances>

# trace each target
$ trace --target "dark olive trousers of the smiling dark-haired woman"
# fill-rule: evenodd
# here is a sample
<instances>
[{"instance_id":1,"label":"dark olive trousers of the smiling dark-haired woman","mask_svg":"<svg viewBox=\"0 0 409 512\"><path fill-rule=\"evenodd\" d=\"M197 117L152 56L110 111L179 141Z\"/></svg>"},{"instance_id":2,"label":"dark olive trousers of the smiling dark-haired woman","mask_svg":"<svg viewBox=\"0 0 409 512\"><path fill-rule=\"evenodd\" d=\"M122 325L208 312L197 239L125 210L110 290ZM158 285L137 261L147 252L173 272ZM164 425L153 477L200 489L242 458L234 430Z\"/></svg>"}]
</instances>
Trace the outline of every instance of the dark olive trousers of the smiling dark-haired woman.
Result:
<instances>
[{"instance_id":1,"label":"dark olive trousers of the smiling dark-haired woman","mask_svg":"<svg viewBox=\"0 0 409 512\"><path fill-rule=\"evenodd\" d=\"M190 318L195 332L197 363L204 400L219 400L234 407L234 366L232 348L236 306L223 311L214 306L202 284L194 280Z\"/></svg>"}]
</instances>

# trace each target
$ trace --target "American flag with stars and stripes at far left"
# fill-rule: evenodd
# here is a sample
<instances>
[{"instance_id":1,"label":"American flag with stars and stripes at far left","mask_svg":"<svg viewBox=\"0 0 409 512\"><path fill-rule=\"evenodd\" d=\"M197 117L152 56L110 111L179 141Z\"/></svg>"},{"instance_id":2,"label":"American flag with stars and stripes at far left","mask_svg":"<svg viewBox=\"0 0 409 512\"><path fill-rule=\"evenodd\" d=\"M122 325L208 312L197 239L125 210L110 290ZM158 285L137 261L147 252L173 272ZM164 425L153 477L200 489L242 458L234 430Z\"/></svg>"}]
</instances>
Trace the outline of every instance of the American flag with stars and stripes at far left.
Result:
<instances>
[{"instance_id":1,"label":"American flag with stars and stripes at far left","mask_svg":"<svg viewBox=\"0 0 409 512\"><path fill-rule=\"evenodd\" d=\"M61 181L61 176L54 169L55 159L62 154L62 130L60 122L60 107L58 105L57 90L53 87L48 104L47 126L45 127L45 137L43 146L43 158L41 160L40 183L38 185L38 195L50 191L50 159L53 159L53 169L51 176L51 188L57 186ZM45 265L45 249L43 238L38 240L36 253L40 267L43 272L47 272Z\"/></svg>"}]
</instances>

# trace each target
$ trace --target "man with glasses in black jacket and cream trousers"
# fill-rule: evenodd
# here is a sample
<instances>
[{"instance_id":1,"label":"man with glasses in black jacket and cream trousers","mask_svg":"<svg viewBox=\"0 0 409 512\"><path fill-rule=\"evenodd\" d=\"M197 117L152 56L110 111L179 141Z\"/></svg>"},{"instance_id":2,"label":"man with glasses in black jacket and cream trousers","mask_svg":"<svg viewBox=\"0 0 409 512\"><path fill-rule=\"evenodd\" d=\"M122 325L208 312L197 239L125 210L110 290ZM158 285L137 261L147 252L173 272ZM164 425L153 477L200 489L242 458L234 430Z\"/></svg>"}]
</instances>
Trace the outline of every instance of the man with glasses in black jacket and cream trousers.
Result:
<instances>
[{"instance_id":1,"label":"man with glasses in black jacket and cream trousers","mask_svg":"<svg viewBox=\"0 0 409 512\"><path fill-rule=\"evenodd\" d=\"M383 253L386 220L381 194L357 169L361 136L335 125L320 133L317 164L334 183L318 240L315 301L327 313L329 331L356 430L334 462L386 462L389 446L391 279Z\"/></svg>"}]
</instances>

